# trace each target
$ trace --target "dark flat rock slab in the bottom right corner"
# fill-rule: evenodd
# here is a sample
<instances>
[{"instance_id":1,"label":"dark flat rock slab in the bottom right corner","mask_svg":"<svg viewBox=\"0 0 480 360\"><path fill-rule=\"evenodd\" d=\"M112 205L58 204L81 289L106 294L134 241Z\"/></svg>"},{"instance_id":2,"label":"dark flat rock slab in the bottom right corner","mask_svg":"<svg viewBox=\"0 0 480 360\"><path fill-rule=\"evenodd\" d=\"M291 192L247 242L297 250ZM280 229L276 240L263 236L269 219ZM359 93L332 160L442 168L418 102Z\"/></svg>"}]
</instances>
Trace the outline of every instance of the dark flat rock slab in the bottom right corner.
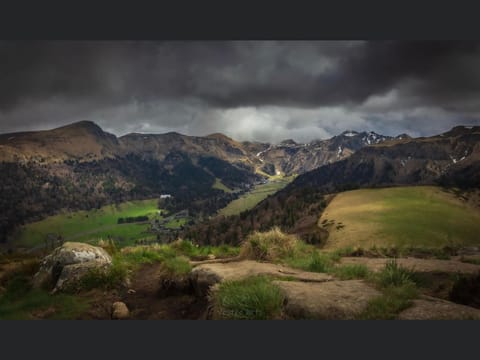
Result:
<instances>
[{"instance_id":1,"label":"dark flat rock slab in the bottom right corner","mask_svg":"<svg viewBox=\"0 0 480 360\"><path fill-rule=\"evenodd\" d=\"M450 301L424 296L402 311L400 320L480 320L480 310Z\"/></svg>"}]
</instances>

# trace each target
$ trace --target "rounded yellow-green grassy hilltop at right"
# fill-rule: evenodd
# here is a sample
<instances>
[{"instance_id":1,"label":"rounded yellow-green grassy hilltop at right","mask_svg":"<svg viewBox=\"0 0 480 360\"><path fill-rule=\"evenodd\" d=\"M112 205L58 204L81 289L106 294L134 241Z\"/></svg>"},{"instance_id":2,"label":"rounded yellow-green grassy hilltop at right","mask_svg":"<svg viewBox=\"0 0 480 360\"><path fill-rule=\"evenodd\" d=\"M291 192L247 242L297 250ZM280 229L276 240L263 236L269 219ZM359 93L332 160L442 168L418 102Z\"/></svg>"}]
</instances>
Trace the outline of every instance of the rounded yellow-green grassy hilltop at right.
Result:
<instances>
[{"instance_id":1,"label":"rounded yellow-green grassy hilltop at right","mask_svg":"<svg viewBox=\"0 0 480 360\"><path fill-rule=\"evenodd\" d=\"M480 211L433 186L342 192L319 220L326 248L479 245Z\"/></svg>"}]
</instances>

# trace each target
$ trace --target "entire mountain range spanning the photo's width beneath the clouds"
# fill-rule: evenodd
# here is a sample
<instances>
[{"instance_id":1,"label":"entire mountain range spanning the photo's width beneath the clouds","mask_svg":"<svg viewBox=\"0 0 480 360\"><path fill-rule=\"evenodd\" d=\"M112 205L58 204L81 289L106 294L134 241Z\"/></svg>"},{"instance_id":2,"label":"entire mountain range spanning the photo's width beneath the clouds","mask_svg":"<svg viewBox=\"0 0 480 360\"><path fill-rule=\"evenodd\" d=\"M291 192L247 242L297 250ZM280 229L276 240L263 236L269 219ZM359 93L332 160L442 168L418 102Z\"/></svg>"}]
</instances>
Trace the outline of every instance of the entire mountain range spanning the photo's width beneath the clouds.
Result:
<instances>
[{"instance_id":1,"label":"entire mountain range spanning the photo's width beneath the clouds","mask_svg":"<svg viewBox=\"0 0 480 360\"><path fill-rule=\"evenodd\" d=\"M203 218L275 174L299 175L282 194L311 187L478 186L479 144L480 127L462 126L426 138L345 131L307 144L239 142L219 133L116 137L91 121L2 134L0 241L18 225L62 210L161 194L172 195L167 209L189 208Z\"/></svg>"}]
</instances>

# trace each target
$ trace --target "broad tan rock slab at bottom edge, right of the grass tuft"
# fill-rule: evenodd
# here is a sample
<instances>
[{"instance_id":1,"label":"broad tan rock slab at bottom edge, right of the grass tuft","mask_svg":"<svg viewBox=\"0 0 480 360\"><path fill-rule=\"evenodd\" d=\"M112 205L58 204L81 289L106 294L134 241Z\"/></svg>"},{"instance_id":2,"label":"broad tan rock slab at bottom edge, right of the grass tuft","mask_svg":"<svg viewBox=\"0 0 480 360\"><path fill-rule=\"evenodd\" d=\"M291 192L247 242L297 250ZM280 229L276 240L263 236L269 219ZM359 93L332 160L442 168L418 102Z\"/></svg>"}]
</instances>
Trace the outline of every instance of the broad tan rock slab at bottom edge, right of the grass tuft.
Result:
<instances>
[{"instance_id":1,"label":"broad tan rock slab at bottom edge, right of the grass tuft","mask_svg":"<svg viewBox=\"0 0 480 360\"><path fill-rule=\"evenodd\" d=\"M354 319L381 293L362 280L305 283L274 281L286 297L285 313L294 319Z\"/></svg>"}]
</instances>

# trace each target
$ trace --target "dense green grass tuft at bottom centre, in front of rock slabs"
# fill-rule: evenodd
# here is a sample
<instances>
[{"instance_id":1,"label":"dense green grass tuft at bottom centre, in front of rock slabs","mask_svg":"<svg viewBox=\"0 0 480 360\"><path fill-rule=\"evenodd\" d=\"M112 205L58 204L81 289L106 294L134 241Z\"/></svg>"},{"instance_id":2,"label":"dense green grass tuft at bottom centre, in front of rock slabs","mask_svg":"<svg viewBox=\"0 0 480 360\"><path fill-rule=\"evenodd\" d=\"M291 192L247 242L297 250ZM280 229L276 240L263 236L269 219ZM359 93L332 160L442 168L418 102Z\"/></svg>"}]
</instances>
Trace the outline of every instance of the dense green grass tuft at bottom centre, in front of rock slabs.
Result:
<instances>
[{"instance_id":1,"label":"dense green grass tuft at bottom centre, in front of rock slabs","mask_svg":"<svg viewBox=\"0 0 480 360\"><path fill-rule=\"evenodd\" d=\"M214 318L268 320L281 317L284 296L266 277L226 281L212 295Z\"/></svg>"}]
</instances>

